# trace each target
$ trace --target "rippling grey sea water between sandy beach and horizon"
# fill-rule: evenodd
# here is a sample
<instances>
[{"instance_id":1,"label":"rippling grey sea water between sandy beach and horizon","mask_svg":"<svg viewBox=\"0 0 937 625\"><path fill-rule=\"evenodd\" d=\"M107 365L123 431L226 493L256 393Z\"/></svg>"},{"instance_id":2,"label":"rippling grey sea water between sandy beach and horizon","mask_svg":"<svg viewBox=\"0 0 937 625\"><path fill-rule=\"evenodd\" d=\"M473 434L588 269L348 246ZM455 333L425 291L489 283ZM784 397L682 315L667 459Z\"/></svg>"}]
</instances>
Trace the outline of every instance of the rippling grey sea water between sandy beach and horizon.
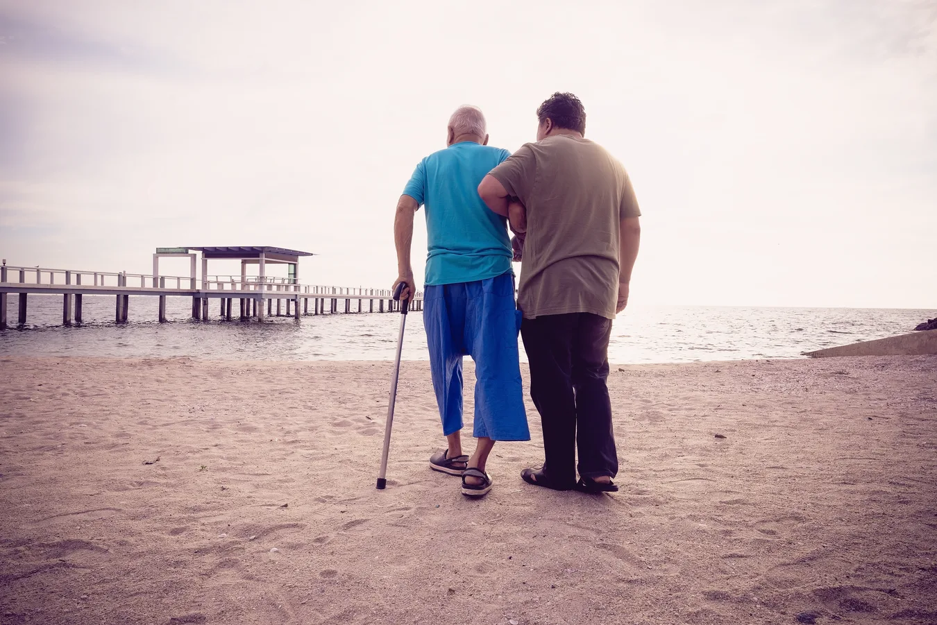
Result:
<instances>
[{"instance_id":1,"label":"rippling grey sea water between sandy beach and horizon","mask_svg":"<svg viewBox=\"0 0 937 625\"><path fill-rule=\"evenodd\" d=\"M9 296L8 320L14 324L16 302L15 295ZM195 321L188 319L191 300L182 297L168 299L167 323L156 321L157 298L152 296L130 297L125 324L113 322L112 296L86 295L82 308L82 325L64 327L61 296L30 295L27 325L0 331L0 354L382 361L394 359L400 323L396 313L224 321L217 300L211 302L208 321ZM933 310L633 305L615 321L609 360L799 358L803 351L904 334L929 317ZM427 359L420 312L408 316L403 358ZM526 360L523 345L521 359Z\"/></svg>"}]
</instances>

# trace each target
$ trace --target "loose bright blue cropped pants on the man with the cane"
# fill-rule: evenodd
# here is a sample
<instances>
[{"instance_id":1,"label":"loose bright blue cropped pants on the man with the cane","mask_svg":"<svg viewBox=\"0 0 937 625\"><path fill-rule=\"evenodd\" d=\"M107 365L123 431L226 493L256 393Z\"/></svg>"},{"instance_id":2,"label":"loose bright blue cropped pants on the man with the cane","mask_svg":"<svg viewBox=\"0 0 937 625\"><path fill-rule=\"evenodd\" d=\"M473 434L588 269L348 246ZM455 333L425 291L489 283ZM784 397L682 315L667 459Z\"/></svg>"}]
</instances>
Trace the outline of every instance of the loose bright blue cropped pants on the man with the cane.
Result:
<instances>
[{"instance_id":1,"label":"loose bright blue cropped pants on the man with the cane","mask_svg":"<svg viewBox=\"0 0 937 625\"><path fill-rule=\"evenodd\" d=\"M423 320L446 436L462 429L462 358L475 361L475 438L529 440L511 274L429 286Z\"/></svg>"}]
</instances>

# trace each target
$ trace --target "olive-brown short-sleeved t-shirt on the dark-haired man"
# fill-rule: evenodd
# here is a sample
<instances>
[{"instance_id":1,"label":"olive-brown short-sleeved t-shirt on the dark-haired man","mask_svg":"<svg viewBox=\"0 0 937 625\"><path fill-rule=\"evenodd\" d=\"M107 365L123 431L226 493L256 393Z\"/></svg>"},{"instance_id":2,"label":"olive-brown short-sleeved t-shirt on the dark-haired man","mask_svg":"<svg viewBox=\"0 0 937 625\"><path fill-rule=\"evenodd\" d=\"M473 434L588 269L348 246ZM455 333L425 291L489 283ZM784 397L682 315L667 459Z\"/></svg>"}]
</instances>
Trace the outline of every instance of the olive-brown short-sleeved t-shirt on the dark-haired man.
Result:
<instances>
[{"instance_id":1,"label":"olive-brown short-sleeved t-shirt on the dark-haired man","mask_svg":"<svg viewBox=\"0 0 937 625\"><path fill-rule=\"evenodd\" d=\"M594 141L553 135L526 143L490 175L527 207L517 302L524 317L615 319L620 222L641 215L621 163Z\"/></svg>"}]
</instances>

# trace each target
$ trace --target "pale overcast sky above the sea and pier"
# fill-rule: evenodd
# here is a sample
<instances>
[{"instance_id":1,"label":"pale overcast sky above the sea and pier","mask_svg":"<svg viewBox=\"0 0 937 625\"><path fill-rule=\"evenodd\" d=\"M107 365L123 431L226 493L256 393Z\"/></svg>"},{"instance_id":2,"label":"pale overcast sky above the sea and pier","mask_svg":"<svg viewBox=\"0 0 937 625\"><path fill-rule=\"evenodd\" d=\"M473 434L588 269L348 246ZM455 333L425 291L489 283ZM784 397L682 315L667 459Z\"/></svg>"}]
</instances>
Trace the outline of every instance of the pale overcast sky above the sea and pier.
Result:
<instances>
[{"instance_id":1,"label":"pale overcast sky above the sea and pier","mask_svg":"<svg viewBox=\"0 0 937 625\"><path fill-rule=\"evenodd\" d=\"M283 246L321 255L304 282L387 288L450 113L515 150L555 91L631 174L633 303L937 306L915 0L0 0L0 255L149 273L156 246Z\"/></svg>"}]
</instances>

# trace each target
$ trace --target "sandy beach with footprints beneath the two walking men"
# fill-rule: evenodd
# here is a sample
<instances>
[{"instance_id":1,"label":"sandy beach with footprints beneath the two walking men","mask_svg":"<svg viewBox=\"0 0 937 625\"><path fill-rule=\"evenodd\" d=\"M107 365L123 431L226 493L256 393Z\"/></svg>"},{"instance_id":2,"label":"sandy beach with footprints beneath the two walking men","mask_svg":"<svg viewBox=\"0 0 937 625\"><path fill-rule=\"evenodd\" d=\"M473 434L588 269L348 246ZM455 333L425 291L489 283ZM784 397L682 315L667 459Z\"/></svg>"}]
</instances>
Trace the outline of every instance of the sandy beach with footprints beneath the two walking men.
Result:
<instances>
[{"instance_id":1,"label":"sandy beach with footprints beneath the two walking men","mask_svg":"<svg viewBox=\"0 0 937 625\"><path fill-rule=\"evenodd\" d=\"M482 500L390 369L0 358L0 623L937 622L937 357L614 366L621 492L528 400Z\"/></svg>"}]
</instances>

